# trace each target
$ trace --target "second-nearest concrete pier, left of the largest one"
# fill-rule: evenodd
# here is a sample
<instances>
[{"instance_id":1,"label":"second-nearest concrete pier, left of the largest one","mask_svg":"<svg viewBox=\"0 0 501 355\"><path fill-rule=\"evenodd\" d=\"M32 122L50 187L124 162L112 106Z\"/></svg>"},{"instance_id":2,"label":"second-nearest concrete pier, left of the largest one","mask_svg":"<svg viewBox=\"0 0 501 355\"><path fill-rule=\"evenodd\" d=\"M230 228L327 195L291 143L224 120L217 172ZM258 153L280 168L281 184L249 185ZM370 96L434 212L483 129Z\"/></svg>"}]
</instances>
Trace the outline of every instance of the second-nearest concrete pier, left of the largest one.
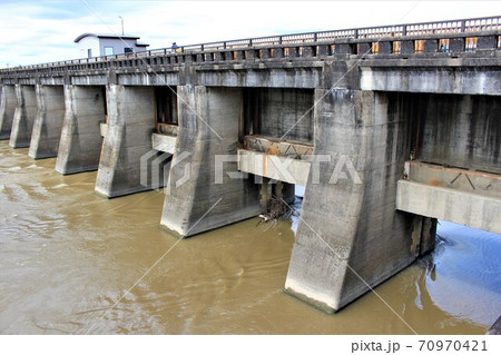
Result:
<instances>
[{"instance_id":1,"label":"second-nearest concrete pier, left of the largest one","mask_svg":"<svg viewBox=\"0 0 501 355\"><path fill-rule=\"evenodd\" d=\"M242 89L178 87L178 148L170 168L161 227L177 236L193 236L262 213L258 185L233 179L237 161L223 162L216 183L216 156L238 148ZM223 159L224 160L224 159Z\"/></svg>"}]
</instances>

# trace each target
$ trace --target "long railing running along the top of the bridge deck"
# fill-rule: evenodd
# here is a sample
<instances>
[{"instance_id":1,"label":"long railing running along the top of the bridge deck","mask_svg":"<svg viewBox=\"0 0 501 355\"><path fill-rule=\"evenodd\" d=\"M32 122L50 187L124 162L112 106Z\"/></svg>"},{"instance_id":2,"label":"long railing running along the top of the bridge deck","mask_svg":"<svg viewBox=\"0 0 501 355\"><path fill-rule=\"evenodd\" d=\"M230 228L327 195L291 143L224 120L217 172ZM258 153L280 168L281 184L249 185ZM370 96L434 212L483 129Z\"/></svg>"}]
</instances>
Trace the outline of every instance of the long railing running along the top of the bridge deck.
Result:
<instances>
[{"instance_id":1,"label":"long railing running along the top of the bridge deck","mask_svg":"<svg viewBox=\"0 0 501 355\"><path fill-rule=\"evenodd\" d=\"M399 39L409 36L419 37L419 36L454 34L454 33L474 34L484 31L495 31L495 32L501 31L501 16L463 19L463 20L380 26L380 27L343 29L343 30L321 31L321 32L305 32L305 33L268 36L258 38L246 38L246 39L226 40L208 43L187 45L179 47L179 50L181 53L187 53L187 52L217 51L223 49L259 48L267 46L287 46L301 43L320 45L325 42L333 42L334 40L338 39L379 40L381 38ZM174 53L174 51L171 48L168 47L135 52L131 55L114 55L114 56L72 59L42 65L19 66L8 69L0 69L0 71L11 71L19 69L30 70L30 69L62 67L70 65L86 65L86 63L108 61L112 59L144 58L153 56L166 56L169 53Z\"/></svg>"}]
</instances>

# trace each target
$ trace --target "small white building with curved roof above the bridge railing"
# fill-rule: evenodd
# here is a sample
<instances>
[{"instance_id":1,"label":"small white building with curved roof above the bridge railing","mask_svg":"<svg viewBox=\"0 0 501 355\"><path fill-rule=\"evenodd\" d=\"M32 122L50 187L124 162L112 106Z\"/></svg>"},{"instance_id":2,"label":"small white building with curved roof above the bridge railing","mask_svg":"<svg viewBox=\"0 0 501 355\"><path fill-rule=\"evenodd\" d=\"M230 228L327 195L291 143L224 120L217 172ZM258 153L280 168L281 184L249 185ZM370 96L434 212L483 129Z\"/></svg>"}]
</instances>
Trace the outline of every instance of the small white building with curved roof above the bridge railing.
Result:
<instances>
[{"instance_id":1,"label":"small white building with curved roof above the bridge railing","mask_svg":"<svg viewBox=\"0 0 501 355\"><path fill-rule=\"evenodd\" d=\"M149 45L140 43L139 37L130 34L84 33L77 37L80 58L115 56L145 51Z\"/></svg>"}]
</instances>

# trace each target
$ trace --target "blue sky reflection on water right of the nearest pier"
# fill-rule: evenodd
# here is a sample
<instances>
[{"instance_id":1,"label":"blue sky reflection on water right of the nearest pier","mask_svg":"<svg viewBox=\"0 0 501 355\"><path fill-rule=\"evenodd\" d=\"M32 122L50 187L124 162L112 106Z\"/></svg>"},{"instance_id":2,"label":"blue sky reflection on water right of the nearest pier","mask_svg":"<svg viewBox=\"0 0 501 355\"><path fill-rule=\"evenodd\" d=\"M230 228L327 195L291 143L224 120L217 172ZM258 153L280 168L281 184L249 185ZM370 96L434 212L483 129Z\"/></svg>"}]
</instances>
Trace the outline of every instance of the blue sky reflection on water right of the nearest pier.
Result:
<instances>
[{"instance_id":1,"label":"blue sky reflection on water right of the nearest pier","mask_svg":"<svg viewBox=\"0 0 501 355\"><path fill-rule=\"evenodd\" d=\"M440 221L432 263L425 287L433 303L489 328L501 313L501 237Z\"/></svg>"}]
</instances>

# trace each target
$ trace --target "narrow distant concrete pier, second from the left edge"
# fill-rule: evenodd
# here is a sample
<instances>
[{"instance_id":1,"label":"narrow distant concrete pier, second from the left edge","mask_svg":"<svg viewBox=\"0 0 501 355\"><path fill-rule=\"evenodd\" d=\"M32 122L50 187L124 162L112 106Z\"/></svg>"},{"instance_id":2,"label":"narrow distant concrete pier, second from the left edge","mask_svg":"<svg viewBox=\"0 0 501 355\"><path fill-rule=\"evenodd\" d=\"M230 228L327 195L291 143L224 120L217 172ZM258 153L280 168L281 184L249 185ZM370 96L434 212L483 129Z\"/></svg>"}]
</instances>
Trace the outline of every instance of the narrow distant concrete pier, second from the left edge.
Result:
<instances>
[{"instance_id":1,"label":"narrow distant concrete pier, second from the left edge","mask_svg":"<svg viewBox=\"0 0 501 355\"><path fill-rule=\"evenodd\" d=\"M37 115L37 96L35 86L16 86L17 106L12 119L9 146L12 148L29 147Z\"/></svg>"}]
</instances>

